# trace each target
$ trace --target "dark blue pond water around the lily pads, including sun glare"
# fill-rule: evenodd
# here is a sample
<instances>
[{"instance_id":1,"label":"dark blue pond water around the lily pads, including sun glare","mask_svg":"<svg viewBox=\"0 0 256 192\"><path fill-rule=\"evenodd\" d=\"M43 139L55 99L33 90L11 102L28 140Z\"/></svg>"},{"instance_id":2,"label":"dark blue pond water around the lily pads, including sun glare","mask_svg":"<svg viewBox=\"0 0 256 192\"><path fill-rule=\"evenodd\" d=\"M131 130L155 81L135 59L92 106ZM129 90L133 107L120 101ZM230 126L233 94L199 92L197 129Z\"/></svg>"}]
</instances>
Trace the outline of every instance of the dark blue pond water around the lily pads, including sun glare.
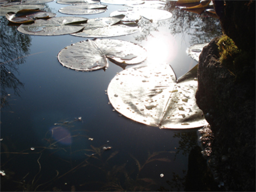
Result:
<instances>
[{"instance_id":1,"label":"dark blue pond water around the lily pads, including sun glare","mask_svg":"<svg viewBox=\"0 0 256 192\"><path fill-rule=\"evenodd\" d=\"M61 7L46 3L46 11L68 16ZM120 8L109 5L105 13L83 17L109 17ZM197 64L186 49L221 29L218 19L182 11L173 1L164 9L173 17L143 19L141 32L113 39L140 44L148 61L170 64L179 78ZM62 67L58 52L87 38L29 36L0 19L2 191L190 191L206 190L205 184L218 190L200 172L206 161L193 164L201 158L198 129L159 129L112 110L106 89L123 68L111 62L106 71L89 73Z\"/></svg>"}]
</instances>

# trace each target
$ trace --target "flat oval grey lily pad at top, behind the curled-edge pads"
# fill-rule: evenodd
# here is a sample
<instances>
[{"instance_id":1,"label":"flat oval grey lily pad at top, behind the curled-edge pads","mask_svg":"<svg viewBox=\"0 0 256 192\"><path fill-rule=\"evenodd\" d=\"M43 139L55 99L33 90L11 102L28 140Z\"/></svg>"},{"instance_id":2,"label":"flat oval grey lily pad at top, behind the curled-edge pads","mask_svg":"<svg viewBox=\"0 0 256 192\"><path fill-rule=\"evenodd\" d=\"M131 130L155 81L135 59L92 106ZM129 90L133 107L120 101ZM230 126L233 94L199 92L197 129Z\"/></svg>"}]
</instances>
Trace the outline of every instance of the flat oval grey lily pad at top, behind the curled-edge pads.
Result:
<instances>
[{"instance_id":1,"label":"flat oval grey lily pad at top, behind the curled-edge pads","mask_svg":"<svg viewBox=\"0 0 256 192\"><path fill-rule=\"evenodd\" d=\"M58 11L64 14L97 14L104 13L106 8L103 4L81 4L62 7Z\"/></svg>"}]
</instances>

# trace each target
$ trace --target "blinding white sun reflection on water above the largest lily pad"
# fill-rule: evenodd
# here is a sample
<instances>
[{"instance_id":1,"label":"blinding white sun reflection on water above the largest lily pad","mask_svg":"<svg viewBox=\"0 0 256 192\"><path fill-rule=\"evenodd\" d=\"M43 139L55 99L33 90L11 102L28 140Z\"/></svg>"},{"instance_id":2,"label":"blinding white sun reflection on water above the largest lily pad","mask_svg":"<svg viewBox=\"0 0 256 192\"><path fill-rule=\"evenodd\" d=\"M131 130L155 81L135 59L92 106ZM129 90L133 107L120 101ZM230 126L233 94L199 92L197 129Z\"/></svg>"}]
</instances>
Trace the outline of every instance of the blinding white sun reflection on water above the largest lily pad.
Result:
<instances>
[{"instance_id":1,"label":"blinding white sun reflection on water above the largest lily pad","mask_svg":"<svg viewBox=\"0 0 256 192\"><path fill-rule=\"evenodd\" d=\"M143 44L149 63L169 63L177 55L177 43L171 34L156 33Z\"/></svg>"}]
</instances>

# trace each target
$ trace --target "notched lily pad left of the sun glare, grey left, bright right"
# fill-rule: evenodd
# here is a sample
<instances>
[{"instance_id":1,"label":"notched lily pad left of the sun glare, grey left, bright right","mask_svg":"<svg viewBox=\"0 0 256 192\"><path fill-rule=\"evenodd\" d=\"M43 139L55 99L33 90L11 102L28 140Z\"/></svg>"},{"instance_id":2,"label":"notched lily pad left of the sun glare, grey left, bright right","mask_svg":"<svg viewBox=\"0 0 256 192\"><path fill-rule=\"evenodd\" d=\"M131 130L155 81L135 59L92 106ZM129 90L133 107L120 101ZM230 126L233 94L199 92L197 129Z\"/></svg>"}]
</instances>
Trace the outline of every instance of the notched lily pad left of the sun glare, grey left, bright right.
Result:
<instances>
[{"instance_id":1,"label":"notched lily pad left of the sun glare, grey left, bright right","mask_svg":"<svg viewBox=\"0 0 256 192\"><path fill-rule=\"evenodd\" d=\"M75 70L107 68L107 58L124 64L137 64L146 59L141 46L116 39L94 39L65 47L58 53L59 62Z\"/></svg>"}]
</instances>

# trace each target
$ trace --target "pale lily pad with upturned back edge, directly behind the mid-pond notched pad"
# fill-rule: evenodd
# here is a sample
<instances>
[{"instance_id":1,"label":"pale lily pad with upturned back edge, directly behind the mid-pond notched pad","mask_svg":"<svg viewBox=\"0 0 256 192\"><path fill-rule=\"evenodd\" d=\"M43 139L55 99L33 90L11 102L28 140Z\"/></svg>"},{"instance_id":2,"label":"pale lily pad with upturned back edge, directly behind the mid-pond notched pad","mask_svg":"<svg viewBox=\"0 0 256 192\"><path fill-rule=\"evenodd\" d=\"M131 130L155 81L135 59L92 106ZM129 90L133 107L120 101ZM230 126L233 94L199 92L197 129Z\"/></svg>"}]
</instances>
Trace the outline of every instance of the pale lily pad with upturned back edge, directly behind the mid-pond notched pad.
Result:
<instances>
[{"instance_id":1,"label":"pale lily pad with upturned back edge, directly behind the mid-pond notched pad","mask_svg":"<svg viewBox=\"0 0 256 192\"><path fill-rule=\"evenodd\" d=\"M137 24L116 24L119 23L125 15L115 17L102 17L88 19L84 24L82 32L72 33L73 36L102 38L102 37L118 37L127 34L136 33L141 30Z\"/></svg>"}]
</instances>

